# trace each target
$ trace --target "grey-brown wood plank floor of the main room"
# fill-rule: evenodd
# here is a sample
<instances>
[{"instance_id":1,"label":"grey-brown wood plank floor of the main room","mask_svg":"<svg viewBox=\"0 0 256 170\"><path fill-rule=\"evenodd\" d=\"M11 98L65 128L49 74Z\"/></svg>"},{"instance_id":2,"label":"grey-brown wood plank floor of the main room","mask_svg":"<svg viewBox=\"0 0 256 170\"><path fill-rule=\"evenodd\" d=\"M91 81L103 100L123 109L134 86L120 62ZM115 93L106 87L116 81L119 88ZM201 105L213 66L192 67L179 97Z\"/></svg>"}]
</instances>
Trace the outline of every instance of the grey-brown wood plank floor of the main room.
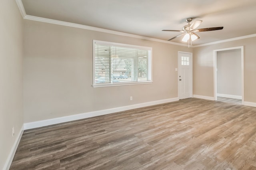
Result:
<instances>
[{"instance_id":1,"label":"grey-brown wood plank floor of the main room","mask_svg":"<svg viewBox=\"0 0 256 170\"><path fill-rule=\"evenodd\" d=\"M256 107L183 99L25 130L10 170L256 170Z\"/></svg>"}]
</instances>

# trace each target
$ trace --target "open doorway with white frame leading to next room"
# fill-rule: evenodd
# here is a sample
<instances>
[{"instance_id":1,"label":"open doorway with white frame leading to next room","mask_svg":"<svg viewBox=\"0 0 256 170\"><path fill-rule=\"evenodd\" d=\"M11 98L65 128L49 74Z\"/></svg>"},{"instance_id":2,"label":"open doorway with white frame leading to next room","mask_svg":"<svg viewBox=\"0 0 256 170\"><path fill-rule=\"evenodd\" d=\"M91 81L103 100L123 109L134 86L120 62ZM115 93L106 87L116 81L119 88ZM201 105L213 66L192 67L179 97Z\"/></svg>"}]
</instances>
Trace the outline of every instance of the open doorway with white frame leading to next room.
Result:
<instances>
[{"instance_id":1,"label":"open doorway with white frame leading to next room","mask_svg":"<svg viewBox=\"0 0 256 170\"><path fill-rule=\"evenodd\" d=\"M213 52L214 100L244 105L244 47Z\"/></svg>"}]
</instances>

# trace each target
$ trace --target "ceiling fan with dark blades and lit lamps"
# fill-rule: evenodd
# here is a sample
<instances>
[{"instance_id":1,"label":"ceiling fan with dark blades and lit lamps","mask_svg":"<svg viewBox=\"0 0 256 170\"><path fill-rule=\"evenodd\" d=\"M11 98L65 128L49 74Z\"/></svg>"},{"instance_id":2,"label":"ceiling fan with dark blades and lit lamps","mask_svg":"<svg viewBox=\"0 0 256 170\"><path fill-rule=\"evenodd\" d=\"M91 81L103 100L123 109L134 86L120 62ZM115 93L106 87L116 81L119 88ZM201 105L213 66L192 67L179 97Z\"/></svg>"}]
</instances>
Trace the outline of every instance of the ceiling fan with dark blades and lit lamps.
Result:
<instances>
[{"instance_id":1,"label":"ceiling fan with dark blades and lit lamps","mask_svg":"<svg viewBox=\"0 0 256 170\"><path fill-rule=\"evenodd\" d=\"M162 30L162 31L183 32L182 34L179 34L178 36L175 36L175 37L169 39L168 41L173 40L174 38L178 38L182 35L185 35L182 38L182 41L183 42L188 42L188 47L189 47L189 44L192 45L192 41L197 40L197 39L200 38L195 32L214 31L214 30L222 30L223 29L223 27L212 27L212 28L196 29L202 23L202 20L196 20L192 24L190 24L190 22L192 21L192 18L187 18L185 21L188 22L188 25L184 26L182 28L182 30Z\"/></svg>"}]
</instances>

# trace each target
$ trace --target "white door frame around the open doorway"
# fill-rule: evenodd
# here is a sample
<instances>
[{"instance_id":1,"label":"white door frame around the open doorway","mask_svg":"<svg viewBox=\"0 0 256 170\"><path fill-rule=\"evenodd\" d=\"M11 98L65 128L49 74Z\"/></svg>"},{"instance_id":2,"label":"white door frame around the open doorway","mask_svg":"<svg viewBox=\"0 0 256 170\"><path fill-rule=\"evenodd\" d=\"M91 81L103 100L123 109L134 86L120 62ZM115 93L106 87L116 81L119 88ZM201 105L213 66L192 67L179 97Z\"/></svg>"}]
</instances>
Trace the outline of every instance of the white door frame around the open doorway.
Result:
<instances>
[{"instance_id":1,"label":"white door frame around the open doorway","mask_svg":"<svg viewBox=\"0 0 256 170\"><path fill-rule=\"evenodd\" d=\"M213 50L213 82L214 82L214 100L217 100L217 51L228 51L232 49L241 49L241 83L242 83L242 105L244 105L244 46L214 49Z\"/></svg>"}]
</instances>

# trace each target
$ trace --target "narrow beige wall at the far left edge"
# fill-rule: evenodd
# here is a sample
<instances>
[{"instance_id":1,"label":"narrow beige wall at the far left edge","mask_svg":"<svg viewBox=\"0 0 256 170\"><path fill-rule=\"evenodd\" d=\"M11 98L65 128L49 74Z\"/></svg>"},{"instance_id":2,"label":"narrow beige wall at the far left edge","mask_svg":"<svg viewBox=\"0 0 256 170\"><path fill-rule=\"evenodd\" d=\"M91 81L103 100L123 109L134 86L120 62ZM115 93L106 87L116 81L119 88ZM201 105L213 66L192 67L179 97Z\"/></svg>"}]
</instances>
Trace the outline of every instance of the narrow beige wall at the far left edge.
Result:
<instances>
[{"instance_id":1,"label":"narrow beige wall at the far left edge","mask_svg":"<svg viewBox=\"0 0 256 170\"><path fill-rule=\"evenodd\" d=\"M14 0L0 5L0 169L23 125L23 19ZM12 127L15 129L12 137Z\"/></svg>"}]
</instances>

